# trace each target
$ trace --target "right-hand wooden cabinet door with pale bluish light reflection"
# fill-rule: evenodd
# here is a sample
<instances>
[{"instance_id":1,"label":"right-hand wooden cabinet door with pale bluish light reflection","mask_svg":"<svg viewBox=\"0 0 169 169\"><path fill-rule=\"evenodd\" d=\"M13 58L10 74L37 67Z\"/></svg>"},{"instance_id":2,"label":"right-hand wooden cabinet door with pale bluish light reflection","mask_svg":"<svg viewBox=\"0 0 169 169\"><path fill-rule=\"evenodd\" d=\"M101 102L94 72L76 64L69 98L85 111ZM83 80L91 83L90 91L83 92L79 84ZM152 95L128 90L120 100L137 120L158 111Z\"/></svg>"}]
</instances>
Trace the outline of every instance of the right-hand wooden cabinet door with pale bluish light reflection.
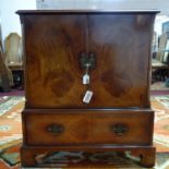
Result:
<instances>
[{"instance_id":1,"label":"right-hand wooden cabinet door with pale bluish light reflection","mask_svg":"<svg viewBox=\"0 0 169 169\"><path fill-rule=\"evenodd\" d=\"M154 15L88 16L88 47L97 67L90 88L99 106L146 107Z\"/></svg>"}]
</instances>

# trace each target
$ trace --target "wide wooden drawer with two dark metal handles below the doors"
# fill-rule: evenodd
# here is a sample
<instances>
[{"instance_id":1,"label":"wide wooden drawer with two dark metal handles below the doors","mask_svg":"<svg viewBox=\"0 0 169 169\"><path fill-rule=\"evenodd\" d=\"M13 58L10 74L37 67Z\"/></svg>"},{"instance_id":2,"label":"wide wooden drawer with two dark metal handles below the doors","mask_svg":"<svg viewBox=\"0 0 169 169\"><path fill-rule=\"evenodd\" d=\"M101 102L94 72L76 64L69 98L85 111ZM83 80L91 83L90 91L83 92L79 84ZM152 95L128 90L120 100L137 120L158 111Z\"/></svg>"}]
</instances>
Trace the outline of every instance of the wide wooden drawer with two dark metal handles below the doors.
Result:
<instances>
[{"instance_id":1,"label":"wide wooden drawer with two dark metal handles below the doors","mask_svg":"<svg viewBox=\"0 0 169 169\"><path fill-rule=\"evenodd\" d=\"M59 144L152 144L152 111L43 111L25 113L25 142Z\"/></svg>"}]
</instances>

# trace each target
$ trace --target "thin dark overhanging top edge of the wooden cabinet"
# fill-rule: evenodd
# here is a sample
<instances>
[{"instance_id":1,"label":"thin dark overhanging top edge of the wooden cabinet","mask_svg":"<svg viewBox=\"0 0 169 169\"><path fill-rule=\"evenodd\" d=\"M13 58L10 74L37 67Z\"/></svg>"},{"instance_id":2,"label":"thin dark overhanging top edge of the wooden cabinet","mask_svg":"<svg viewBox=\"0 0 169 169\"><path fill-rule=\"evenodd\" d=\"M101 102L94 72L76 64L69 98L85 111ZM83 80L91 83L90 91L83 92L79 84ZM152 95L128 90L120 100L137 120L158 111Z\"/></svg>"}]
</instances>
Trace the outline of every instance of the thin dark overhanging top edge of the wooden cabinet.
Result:
<instances>
[{"instance_id":1,"label":"thin dark overhanging top edge of the wooden cabinet","mask_svg":"<svg viewBox=\"0 0 169 169\"><path fill-rule=\"evenodd\" d=\"M158 10L19 10L17 14L156 14Z\"/></svg>"}]
</instances>

